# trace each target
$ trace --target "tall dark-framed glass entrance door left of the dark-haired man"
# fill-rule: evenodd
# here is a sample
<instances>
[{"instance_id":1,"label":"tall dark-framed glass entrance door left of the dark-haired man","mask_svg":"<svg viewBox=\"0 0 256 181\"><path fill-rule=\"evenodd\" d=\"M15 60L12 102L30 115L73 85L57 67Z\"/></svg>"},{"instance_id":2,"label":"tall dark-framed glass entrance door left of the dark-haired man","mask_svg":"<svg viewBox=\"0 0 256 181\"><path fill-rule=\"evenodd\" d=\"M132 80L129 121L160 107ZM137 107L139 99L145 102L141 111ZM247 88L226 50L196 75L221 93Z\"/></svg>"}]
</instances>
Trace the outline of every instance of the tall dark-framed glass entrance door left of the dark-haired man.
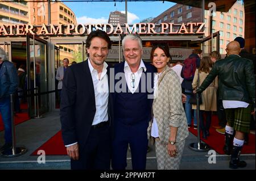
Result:
<instances>
[{"instance_id":1,"label":"tall dark-framed glass entrance door left of the dark-haired man","mask_svg":"<svg viewBox=\"0 0 256 181\"><path fill-rule=\"evenodd\" d=\"M39 117L48 107L47 80L47 41L27 35L27 89L28 113L30 117Z\"/></svg>"}]
</instances>

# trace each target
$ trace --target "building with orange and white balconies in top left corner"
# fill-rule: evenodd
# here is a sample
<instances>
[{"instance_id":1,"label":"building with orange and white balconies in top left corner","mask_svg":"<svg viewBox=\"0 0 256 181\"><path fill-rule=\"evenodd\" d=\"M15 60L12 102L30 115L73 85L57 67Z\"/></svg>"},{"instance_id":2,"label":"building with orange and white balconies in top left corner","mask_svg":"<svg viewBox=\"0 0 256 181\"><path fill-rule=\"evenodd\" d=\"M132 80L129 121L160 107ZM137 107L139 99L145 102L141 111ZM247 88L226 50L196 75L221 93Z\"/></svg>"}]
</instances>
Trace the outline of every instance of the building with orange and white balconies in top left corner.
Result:
<instances>
[{"instance_id":1,"label":"building with orange and white balconies in top left corner","mask_svg":"<svg viewBox=\"0 0 256 181\"><path fill-rule=\"evenodd\" d=\"M29 22L28 2L1 2L0 24L27 24Z\"/></svg>"}]
</instances>

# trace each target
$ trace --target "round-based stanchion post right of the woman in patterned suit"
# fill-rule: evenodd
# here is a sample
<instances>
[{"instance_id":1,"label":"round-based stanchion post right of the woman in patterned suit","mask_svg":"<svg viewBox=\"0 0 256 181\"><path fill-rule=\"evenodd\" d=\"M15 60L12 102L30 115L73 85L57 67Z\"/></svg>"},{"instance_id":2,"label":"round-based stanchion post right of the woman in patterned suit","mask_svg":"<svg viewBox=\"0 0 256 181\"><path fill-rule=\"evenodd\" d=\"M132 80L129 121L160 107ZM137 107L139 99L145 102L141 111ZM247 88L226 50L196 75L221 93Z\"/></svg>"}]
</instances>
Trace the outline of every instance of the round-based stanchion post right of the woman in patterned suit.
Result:
<instances>
[{"instance_id":1,"label":"round-based stanchion post right of the woman in patterned suit","mask_svg":"<svg viewBox=\"0 0 256 181\"><path fill-rule=\"evenodd\" d=\"M197 142L189 144L189 148L194 151L208 151L209 145L201 143L200 140L200 116L199 116L200 104L199 93L196 93L196 118L197 118Z\"/></svg>"}]
</instances>

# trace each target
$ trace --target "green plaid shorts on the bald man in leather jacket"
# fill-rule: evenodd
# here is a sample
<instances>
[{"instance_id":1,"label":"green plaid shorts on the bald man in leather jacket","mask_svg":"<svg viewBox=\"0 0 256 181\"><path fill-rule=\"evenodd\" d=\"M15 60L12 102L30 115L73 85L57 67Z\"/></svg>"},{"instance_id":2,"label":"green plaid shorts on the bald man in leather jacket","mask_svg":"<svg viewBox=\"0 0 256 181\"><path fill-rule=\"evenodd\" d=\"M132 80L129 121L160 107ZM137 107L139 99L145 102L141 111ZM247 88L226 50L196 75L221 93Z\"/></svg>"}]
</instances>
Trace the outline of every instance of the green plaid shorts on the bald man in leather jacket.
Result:
<instances>
[{"instance_id":1,"label":"green plaid shorts on the bald man in leather jacket","mask_svg":"<svg viewBox=\"0 0 256 181\"><path fill-rule=\"evenodd\" d=\"M243 133L250 132L251 105L246 108L225 109L226 120L230 127Z\"/></svg>"}]
</instances>

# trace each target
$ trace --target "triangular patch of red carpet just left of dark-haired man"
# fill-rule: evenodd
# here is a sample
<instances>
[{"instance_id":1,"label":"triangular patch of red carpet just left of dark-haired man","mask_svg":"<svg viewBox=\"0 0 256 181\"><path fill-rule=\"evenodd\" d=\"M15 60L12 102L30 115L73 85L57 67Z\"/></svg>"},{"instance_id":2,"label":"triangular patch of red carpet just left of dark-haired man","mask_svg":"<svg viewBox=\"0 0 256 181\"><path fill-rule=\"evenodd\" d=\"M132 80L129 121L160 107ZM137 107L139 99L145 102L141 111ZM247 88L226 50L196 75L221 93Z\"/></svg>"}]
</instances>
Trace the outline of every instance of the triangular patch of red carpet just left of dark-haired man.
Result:
<instances>
[{"instance_id":1,"label":"triangular patch of red carpet just left of dark-haired man","mask_svg":"<svg viewBox=\"0 0 256 181\"><path fill-rule=\"evenodd\" d=\"M49 138L47 142L36 149L31 155L38 155L38 150L46 151L46 155L67 155L67 149L61 137L61 131Z\"/></svg>"}]
</instances>

